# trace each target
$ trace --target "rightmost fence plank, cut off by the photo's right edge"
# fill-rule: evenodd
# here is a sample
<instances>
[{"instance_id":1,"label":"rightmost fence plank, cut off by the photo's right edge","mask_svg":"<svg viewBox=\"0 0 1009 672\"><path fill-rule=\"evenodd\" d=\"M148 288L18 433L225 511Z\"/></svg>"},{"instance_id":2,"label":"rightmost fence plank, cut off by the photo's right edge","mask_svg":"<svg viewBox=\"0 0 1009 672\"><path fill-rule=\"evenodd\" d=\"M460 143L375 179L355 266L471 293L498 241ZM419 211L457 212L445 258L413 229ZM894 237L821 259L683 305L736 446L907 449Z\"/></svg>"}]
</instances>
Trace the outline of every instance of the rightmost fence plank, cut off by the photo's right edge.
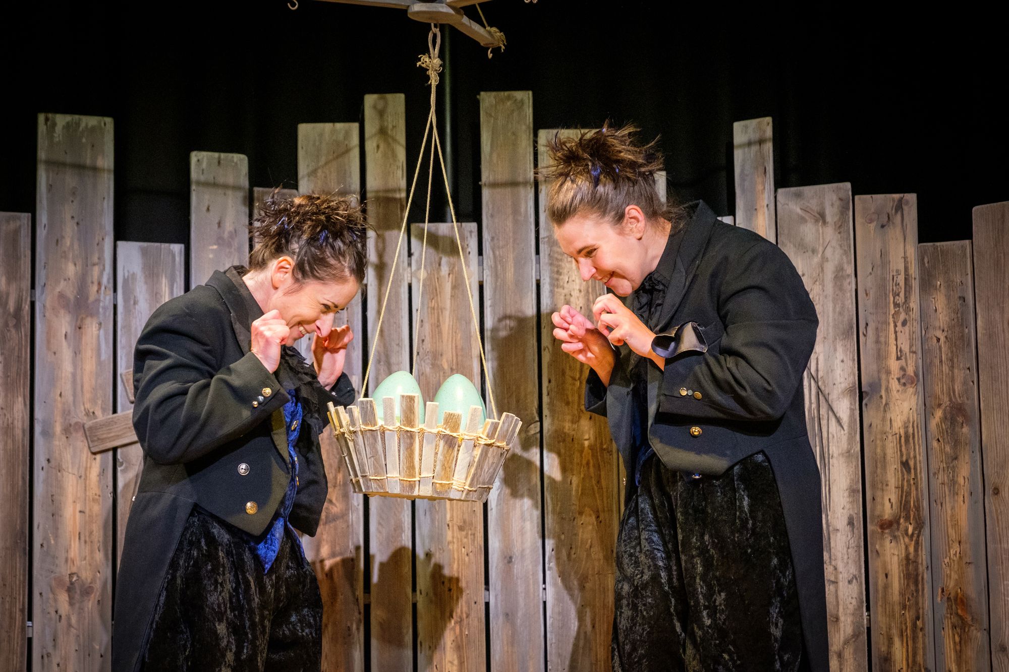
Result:
<instances>
[{"instance_id":1,"label":"rightmost fence plank, cut off by the photo's right edge","mask_svg":"<svg viewBox=\"0 0 1009 672\"><path fill-rule=\"evenodd\" d=\"M974 209L992 669L1009 672L1009 202Z\"/></svg>"}]
</instances>

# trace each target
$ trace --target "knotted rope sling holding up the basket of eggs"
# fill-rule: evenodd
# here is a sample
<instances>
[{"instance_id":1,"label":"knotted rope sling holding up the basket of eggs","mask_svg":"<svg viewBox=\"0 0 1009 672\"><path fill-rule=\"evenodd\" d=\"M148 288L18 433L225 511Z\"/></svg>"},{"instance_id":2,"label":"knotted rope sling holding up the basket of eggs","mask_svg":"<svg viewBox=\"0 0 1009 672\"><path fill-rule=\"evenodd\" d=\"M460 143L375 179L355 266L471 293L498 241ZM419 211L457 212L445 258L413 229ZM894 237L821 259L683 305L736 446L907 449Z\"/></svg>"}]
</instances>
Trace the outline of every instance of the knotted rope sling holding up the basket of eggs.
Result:
<instances>
[{"instance_id":1,"label":"knotted rope sling holding up the basket of eggs","mask_svg":"<svg viewBox=\"0 0 1009 672\"><path fill-rule=\"evenodd\" d=\"M419 57L417 66L419 68L425 68L428 72L428 84L431 86L431 109L428 112L427 125L424 127L424 139L421 141L421 150L418 154L417 167L414 170L414 179L410 186L410 196L407 199L407 208L404 211L403 223L400 227L400 237L396 243L396 254L393 258L393 268L389 272L388 283L385 285L385 294L382 298L381 310L378 313L378 323L375 326L374 338L371 342L371 352L368 355L368 365L364 371L364 381L361 384L362 390L367 390L368 388L368 377L371 374L371 364L374 360L375 348L378 346L378 335L381 332L382 320L385 316L385 307L388 304L389 293L393 289L393 281L396 277L396 270L399 266L400 252L403 248L403 240L407 234L407 222L410 219L410 208L414 202L414 194L417 189L417 179L421 174L421 164L424 162L424 151L428 145L428 137L432 137L431 148L430 148L430 158L428 161L428 198L427 203L424 208L424 238L421 245L421 265L420 265L420 279L417 290L417 311L415 319L415 336L414 336L414 363L412 373L416 377L417 375L417 360L418 352L420 350L420 315L421 307L423 305L422 299L424 296L424 275L425 275L425 260L427 256L428 247L428 224L429 217L431 213L431 185L434 176L434 159L435 150L438 151L438 161L441 166L442 180L445 183L445 194L448 199L449 212L452 215L452 229L455 232L455 242L456 247L459 251L459 261L462 268L463 284L466 287L466 296L469 299L469 315L473 324L473 332L476 335L476 343L479 347L480 352L480 364L483 368L483 376L486 380L487 387L487 399L490 402L490 412L492 417L497 417L497 407L494 404L493 386L490 383L490 371L487 367L487 359L483 352L483 340L480 338L480 324L479 319L476 315L476 308L473 304L473 292L469 286L469 272L466 270L466 259L465 254L462 249L462 238L459 235L459 223L455 215L455 206L452 202L452 192L449 189L448 183L448 173L445 170L445 157L442 154L441 148L441 138L438 136L438 125L437 125L437 115L435 113L435 101L436 101L436 90L439 82L439 73L442 71L442 61L438 57L439 50L441 49L441 30L438 24L431 24L431 32L428 34L428 53L423 53Z\"/></svg>"}]
</instances>

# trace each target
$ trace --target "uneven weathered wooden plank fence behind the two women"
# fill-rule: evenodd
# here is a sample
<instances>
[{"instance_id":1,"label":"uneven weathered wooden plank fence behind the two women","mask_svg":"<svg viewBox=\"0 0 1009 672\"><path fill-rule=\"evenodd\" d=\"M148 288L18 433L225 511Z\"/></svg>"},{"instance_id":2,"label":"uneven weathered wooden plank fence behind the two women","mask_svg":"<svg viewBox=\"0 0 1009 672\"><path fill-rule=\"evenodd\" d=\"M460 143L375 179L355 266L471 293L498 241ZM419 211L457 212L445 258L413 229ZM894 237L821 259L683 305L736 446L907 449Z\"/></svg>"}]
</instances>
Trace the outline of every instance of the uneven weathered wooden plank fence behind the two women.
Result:
<instances>
[{"instance_id":1,"label":"uneven weathered wooden plank fence behind the two women","mask_svg":"<svg viewBox=\"0 0 1009 672\"><path fill-rule=\"evenodd\" d=\"M560 252L546 185L537 207L534 139L542 162L555 131L537 134L532 105L529 92L481 95L482 221L460 224L461 259L451 224L428 226L423 265L424 227L411 227L371 377L410 368L416 350L428 400L453 372L492 385L525 423L521 447L485 506L411 502L352 494L324 435L330 492L306 552L326 605L326 670L608 669L623 471L605 423L582 411L585 370L549 321L564 303L587 310L602 288ZM417 141L402 94L366 96L363 110L362 124L300 125L297 147L299 189L365 199L375 229L366 291L339 318L357 334L358 384ZM128 415L112 414L131 408L123 374L138 330L185 289L185 249L113 245L111 119L44 114L37 131L34 263L31 217L0 213L0 670L29 658L33 670L108 670L140 468ZM831 669L1009 672L1009 203L975 209L973 245L919 245L913 194L775 190L771 120L739 122L734 137L738 208L722 219L788 253L820 319L803 388ZM249 189L242 155L196 151L191 170L189 287L246 260L249 203L268 194ZM86 426L105 418L121 436L93 453Z\"/></svg>"}]
</instances>

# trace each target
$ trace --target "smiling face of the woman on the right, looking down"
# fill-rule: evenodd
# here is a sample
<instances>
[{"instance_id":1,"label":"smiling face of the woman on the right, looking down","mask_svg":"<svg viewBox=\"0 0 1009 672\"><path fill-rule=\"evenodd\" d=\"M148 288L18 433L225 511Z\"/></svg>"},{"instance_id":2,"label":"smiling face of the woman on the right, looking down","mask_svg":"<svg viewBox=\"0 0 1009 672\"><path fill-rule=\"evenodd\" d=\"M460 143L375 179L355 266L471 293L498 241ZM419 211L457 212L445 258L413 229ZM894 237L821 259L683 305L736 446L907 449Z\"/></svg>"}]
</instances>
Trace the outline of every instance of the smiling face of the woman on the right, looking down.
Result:
<instances>
[{"instance_id":1,"label":"smiling face of the woman on the right, looking down","mask_svg":"<svg viewBox=\"0 0 1009 672\"><path fill-rule=\"evenodd\" d=\"M628 206L619 225L592 214L577 214L554 227L561 250L574 259L581 279L597 279L626 297L641 286L658 260L645 236L648 223L638 206ZM658 250L659 255L662 249Z\"/></svg>"}]
</instances>

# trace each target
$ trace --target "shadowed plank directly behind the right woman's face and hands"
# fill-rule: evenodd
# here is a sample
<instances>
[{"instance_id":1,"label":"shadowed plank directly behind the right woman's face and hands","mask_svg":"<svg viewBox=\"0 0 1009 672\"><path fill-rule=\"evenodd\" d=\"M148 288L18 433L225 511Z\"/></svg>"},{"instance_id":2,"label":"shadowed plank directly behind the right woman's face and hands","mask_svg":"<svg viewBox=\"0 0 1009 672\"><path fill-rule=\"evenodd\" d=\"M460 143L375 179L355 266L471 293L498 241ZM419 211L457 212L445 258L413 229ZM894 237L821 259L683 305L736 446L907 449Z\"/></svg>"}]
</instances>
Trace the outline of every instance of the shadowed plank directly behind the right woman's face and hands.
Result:
<instances>
[{"instance_id":1,"label":"shadowed plank directly behind the right woman's face and hands","mask_svg":"<svg viewBox=\"0 0 1009 672\"><path fill-rule=\"evenodd\" d=\"M574 133L575 131L562 131ZM555 131L540 130L540 165ZM547 656L550 670L608 669L613 620L618 507L616 449L603 418L584 409L586 369L552 335L550 313L569 304L591 314L605 292L582 283L554 238L540 183L544 492L547 552Z\"/></svg>"}]
</instances>

